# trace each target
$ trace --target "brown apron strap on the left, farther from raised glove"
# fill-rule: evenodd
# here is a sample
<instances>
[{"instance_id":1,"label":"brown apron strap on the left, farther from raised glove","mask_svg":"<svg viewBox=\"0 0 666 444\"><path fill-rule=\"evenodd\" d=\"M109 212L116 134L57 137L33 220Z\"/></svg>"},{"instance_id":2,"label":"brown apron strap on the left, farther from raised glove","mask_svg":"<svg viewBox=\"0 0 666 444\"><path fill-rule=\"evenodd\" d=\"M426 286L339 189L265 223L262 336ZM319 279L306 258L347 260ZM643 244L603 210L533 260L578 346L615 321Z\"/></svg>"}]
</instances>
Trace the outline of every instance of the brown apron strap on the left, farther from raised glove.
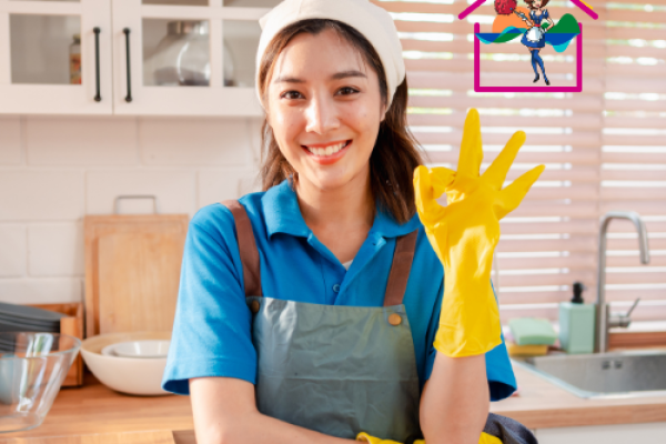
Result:
<instances>
[{"instance_id":1,"label":"brown apron strap on the left, farther from raised glove","mask_svg":"<svg viewBox=\"0 0 666 444\"><path fill-rule=\"evenodd\" d=\"M245 296L261 296L261 270L259 263L259 250L252 232L252 223L245 208L236 200L221 202L231 210L239 236L239 251L243 263L243 280L245 283Z\"/></svg>"}]
</instances>

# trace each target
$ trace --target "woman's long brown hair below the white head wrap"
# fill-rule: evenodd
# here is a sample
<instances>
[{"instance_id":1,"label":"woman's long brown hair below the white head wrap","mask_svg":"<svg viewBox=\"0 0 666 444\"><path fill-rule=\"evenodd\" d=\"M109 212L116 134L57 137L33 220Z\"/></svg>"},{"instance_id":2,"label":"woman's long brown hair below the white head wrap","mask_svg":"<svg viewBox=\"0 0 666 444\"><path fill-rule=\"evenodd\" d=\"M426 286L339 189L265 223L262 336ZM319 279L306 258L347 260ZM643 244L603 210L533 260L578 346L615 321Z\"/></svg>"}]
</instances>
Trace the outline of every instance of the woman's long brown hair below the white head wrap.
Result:
<instances>
[{"instance_id":1,"label":"woman's long brown hair below the white head wrap","mask_svg":"<svg viewBox=\"0 0 666 444\"><path fill-rule=\"evenodd\" d=\"M306 32L317 36L332 29L359 50L365 61L377 73L383 103L387 103L387 87L384 67L373 46L354 28L336 20L309 19L292 23L282 29L268 46L259 69L259 85L262 102L268 104L266 90L280 52L297 34ZM266 108L268 109L268 108ZM380 208L390 212L398 223L405 223L414 215L413 172L423 164L423 151L407 128L407 79L397 87L391 108L380 124L377 140L370 157L370 186L372 196ZM299 174L287 162L273 135L268 115L262 125L262 189L266 191L284 179L291 178L292 186Z\"/></svg>"}]
</instances>

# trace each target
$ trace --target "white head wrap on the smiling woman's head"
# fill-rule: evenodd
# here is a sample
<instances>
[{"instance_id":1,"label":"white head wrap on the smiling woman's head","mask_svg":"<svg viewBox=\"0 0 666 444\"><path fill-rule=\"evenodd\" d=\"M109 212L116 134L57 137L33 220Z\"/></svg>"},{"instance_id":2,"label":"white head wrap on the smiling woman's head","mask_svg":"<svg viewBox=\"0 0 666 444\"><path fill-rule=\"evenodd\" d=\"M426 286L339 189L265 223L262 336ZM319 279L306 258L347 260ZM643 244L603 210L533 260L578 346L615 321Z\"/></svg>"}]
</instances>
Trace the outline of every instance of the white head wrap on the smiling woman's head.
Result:
<instances>
[{"instance_id":1,"label":"white head wrap on the smiling woman's head","mask_svg":"<svg viewBox=\"0 0 666 444\"><path fill-rule=\"evenodd\" d=\"M346 23L361 32L380 54L389 88L387 108L395 89L405 78L402 46L393 19L383 8L369 0L284 0L259 20L262 33L256 50L256 95L259 65L273 37L287 26L306 19L331 19Z\"/></svg>"}]
</instances>

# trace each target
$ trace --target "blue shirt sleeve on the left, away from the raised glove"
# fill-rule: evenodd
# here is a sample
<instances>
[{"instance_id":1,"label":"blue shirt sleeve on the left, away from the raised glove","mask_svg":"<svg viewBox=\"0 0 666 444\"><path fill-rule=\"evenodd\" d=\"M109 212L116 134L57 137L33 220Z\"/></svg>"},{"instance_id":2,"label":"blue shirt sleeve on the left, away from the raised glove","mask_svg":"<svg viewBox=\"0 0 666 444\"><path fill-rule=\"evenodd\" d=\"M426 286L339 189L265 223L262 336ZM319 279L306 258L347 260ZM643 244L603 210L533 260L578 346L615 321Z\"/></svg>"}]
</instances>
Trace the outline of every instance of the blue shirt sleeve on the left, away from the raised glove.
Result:
<instances>
[{"instance_id":1,"label":"blue shirt sleeve on the left, away from the raised glove","mask_svg":"<svg viewBox=\"0 0 666 444\"><path fill-rule=\"evenodd\" d=\"M189 379L226 376L255 383L256 352L245 304L231 211L200 210L188 230L162 389L190 393Z\"/></svg>"}]
</instances>

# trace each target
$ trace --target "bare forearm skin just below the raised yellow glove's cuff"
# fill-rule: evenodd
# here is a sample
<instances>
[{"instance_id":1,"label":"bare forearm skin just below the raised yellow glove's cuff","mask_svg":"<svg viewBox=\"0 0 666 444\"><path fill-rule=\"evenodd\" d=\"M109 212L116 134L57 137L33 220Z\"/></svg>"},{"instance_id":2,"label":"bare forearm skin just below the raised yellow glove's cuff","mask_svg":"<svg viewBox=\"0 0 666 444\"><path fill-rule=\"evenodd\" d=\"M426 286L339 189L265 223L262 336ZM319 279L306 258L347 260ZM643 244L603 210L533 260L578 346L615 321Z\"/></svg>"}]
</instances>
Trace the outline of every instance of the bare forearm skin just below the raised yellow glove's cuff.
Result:
<instances>
[{"instance_id":1,"label":"bare forearm skin just below the raised yellow glove's cuff","mask_svg":"<svg viewBox=\"0 0 666 444\"><path fill-rule=\"evenodd\" d=\"M427 444L478 444L490 410L485 355L448 357L437 352L421 395Z\"/></svg>"}]
</instances>

